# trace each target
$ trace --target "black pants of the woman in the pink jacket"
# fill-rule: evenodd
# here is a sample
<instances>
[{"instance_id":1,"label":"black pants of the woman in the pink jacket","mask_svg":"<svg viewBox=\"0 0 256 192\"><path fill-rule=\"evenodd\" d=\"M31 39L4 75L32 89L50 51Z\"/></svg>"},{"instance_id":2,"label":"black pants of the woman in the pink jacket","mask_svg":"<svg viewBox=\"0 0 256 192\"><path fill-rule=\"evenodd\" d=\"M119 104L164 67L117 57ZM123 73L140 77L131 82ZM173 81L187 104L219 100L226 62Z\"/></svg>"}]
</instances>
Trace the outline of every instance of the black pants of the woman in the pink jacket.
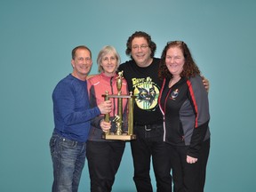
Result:
<instances>
[{"instance_id":1,"label":"black pants of the woman in the pink jacket","mask_svg":"<svg viewBox=\"0 0 256 192\"><path fill-rule=\"evenodd\" d=\"M87 141L92 192L109 192L124 154L124 141Z\"/></svg>"}]
</instances>

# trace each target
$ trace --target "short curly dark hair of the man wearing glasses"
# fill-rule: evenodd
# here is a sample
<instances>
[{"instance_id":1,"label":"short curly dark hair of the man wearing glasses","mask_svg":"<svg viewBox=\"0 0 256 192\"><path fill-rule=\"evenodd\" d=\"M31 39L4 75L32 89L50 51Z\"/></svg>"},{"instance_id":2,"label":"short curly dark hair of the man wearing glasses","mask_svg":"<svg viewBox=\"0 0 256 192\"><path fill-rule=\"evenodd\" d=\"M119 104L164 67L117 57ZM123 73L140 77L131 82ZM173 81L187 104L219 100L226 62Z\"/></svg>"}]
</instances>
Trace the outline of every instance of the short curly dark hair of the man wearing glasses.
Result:
<instances>
[{"instance_id":1,"label":"short curly dark hair of the man wearing glasses","mask_svg":"<svg viewBox=\"0 0 256 192\"><path fill-rule=\"evenodd\" d=\"M155 52L156 52L156 44L151 40L151 36L149 36L148 33L143 32L143 31L136 31L135 33L132 34L132 36L129 36L129 38L127 40L127 43L126 43L126 51L125 51L126 55L130 56L131 59L132 59L132 55L131 55L131 52L132 52L132 40L135 37L144 37L147 40L148 47L151 50L150 57L153 58L154 55L155 55Z\"/></svg>"}]
</instances>

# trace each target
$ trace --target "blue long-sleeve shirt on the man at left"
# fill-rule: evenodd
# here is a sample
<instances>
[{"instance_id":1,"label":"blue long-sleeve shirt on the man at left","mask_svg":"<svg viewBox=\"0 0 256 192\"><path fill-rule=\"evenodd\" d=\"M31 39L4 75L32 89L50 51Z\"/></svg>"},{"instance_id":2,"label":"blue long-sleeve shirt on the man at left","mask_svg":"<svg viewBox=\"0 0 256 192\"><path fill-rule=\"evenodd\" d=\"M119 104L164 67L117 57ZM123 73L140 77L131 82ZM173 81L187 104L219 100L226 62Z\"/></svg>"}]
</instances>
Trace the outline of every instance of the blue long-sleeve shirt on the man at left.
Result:
<instances>
[{"instance_id":1,"label":"blue long-sleeve shirt on the man at left","mask_svg":"<svg viewBox=\"0 0 256 192\"><path fill-rule=\"evenodd\" d=\"M87 81L68 75L52 93L54 131L68 140L85 142L91 119L100 115L98 107L90 108Z\"/></svg>"}]
</instances>

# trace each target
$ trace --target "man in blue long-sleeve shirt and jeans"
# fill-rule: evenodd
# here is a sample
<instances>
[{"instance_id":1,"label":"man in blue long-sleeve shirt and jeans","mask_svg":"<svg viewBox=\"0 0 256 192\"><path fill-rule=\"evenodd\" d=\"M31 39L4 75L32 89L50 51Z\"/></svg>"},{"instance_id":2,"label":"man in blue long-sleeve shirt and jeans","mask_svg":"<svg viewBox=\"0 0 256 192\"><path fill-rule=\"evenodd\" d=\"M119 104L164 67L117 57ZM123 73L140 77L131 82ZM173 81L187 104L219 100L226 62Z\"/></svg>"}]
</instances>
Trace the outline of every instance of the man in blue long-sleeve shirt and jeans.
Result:
<instances>
[{"instance_id":1,"label":"man in blue long-sleeve shirt and jeans","mask_svg":"<svg viewBox=\"0 0 256 192\"><path fill-rule=\"evenodd\" d=\"M55 124L50 140L52 192L78 190L91 120L111 111L110 100L90 108L86 81L92 68L90 49L84 45L74 48L71 64L72 74L60 80L52 93Z\"/></svg>"}]
</instances>

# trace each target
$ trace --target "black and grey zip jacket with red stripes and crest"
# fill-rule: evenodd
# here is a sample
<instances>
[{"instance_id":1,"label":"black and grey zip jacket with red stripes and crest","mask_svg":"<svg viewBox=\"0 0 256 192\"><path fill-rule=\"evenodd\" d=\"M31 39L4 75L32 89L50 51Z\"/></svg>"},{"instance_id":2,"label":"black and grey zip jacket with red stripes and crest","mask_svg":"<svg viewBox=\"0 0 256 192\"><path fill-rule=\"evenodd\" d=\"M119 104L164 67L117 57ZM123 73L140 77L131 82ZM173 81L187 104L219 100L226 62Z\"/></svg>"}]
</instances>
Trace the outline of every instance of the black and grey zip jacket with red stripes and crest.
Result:
<instances>
[{"instance_id":1,"label":"black and grey zip jacket with red stripes and crest","mask_svg":"<svg viewBox=\"0 0 256 192\"><path fill-rule=\"evenodd\" d=\"M188 156L197 157L204 140L210 139L208 93L201 76L182 77L169 88L164 79L158 99L164 115L164 141L189 146Z\"/></svg>"}]
</instances>

